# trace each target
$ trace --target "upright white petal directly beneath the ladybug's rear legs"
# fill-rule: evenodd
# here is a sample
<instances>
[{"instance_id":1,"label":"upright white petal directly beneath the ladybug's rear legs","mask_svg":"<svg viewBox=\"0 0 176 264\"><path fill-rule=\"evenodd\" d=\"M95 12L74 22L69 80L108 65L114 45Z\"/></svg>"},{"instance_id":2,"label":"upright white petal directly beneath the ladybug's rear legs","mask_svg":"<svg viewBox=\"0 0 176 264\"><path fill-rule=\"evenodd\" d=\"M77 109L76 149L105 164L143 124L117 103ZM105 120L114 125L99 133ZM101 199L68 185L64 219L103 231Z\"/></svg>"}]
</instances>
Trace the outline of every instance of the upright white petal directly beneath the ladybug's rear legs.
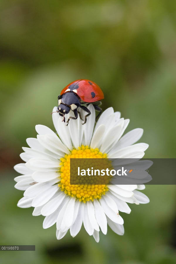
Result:
<instances>
[{"instance_id":1,"label":"upright white petal directly beneath the ladybug's rear legs","mask_svg":"<svg viewBox=\"0 0 176 264\"><path fill-rule=\"evenodd\" d=\"M95 109L92 104L88 105L87 107L91 115L87 117L87 122L84 124L84 137L85 137L85 145L90 145L90 141L92 139L92 134L94 130L94 124L95 124Z\"/></svg>"}]
</instances>

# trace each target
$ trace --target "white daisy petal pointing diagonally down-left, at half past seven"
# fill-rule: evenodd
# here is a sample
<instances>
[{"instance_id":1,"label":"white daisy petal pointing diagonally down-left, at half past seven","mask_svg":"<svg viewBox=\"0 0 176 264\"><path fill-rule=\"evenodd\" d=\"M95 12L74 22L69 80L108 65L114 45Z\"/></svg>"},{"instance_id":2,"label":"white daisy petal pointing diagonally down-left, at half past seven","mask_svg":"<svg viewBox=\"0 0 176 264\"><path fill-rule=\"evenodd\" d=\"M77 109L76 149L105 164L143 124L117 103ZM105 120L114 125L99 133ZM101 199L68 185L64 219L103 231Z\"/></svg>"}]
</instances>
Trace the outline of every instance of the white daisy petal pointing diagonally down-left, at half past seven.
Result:
<instances>
[{"instance_id":1,"label":"white daisy petal pointing diagonally down-left, at half past seven","mask_svg":"<svg viewBox=\"0 0 176 264\"><path fill-rule=\"evenodd\" d=\"M49 216L60 206L65 196L66 194L64 192L58 192L58 195L55 198L43 206L41 209L41 214L43 216Z\"/></svg>"}]
</instances>

